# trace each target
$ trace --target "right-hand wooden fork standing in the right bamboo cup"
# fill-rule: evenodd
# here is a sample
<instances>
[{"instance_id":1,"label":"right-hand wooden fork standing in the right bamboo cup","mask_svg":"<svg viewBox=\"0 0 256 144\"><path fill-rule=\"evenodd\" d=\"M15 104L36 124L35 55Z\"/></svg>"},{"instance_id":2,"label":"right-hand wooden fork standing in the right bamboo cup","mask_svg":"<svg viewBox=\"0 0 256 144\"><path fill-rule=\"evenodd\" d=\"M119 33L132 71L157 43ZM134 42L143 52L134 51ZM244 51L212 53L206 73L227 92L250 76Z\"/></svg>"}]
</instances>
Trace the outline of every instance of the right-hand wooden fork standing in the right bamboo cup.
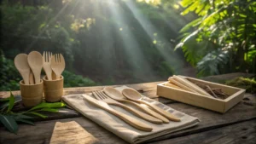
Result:
<instances>
[{"instance_id":1,"label":"right-hand wooden fork standing in the right bamboo cup","mask_svg":"<svg viewBox=\"0 0 256 144\"><path fill-rule=\"evenodd\" d=\"M51 69L55 72L56 78L61 78L61 73L65 69L65 60L61 54L55 54L51 58Z\"/></svg>"}]
</instances>

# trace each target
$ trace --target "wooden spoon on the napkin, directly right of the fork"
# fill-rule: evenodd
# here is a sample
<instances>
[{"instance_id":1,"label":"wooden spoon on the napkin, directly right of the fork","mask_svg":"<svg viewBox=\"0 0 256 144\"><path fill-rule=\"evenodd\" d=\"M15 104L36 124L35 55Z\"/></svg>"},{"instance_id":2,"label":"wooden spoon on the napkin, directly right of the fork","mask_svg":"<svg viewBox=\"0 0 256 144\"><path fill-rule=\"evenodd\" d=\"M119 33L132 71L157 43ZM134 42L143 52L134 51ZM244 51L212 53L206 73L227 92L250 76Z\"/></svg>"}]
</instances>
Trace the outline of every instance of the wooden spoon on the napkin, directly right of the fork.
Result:
<instances>
[{"instance_id":1,"label":"wooden spoon on the napkin, directly right of the fork","mask_svg":"<svg viewBox=\"0 0 256 144\"><path fill-rule=\"evenodd\" d=\"M109 96L111 97L113 100L115 101L120 101L120 102L126 102L126 103L130 103L136 107L139 107L140 109L142 109L144 112L147 112L148 114L150 114L151 116L153 116L154 118L158 118L161 121L163 121L164 123L169 123L169 120L163 116L161 116L160 114L158 114L157 112L154 112L152 110L150 110L148 107L143 107L142 105L137 104L136 102L133 101L129 101L125 98L124 95L122 95L121 92L119 92L119 90L114 89L112 87L105 87L103 89L103 91Z\"/></svg>"}]
</instances>

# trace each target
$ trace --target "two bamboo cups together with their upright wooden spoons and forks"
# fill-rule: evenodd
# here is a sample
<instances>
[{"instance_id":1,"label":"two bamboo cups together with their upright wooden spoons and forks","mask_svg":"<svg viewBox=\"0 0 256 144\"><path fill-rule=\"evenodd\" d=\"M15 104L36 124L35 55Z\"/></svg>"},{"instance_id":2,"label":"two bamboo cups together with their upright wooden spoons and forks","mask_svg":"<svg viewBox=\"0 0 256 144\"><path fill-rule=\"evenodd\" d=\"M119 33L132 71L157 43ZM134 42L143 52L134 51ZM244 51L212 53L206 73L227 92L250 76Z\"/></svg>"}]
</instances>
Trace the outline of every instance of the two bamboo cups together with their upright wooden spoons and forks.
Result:
<instances>
[{"instance_id":1,"label":"two bamboo cups together with their upright wooden spoons and forks","mask_svg":"<svg viewBox=\"0 0 256 144\"><path fill-rule=\"evenodd\" d=\"M20 81L20 94L26 107L33 107L43 101L61 101L63 95L63 77L65 60L61 54L52 55L44 52L41 55L32 51L29 55L19 54L15 57L15 66L23 80ZM43 80L41 71L44 67Z\"/></svg>"}]
</instances>

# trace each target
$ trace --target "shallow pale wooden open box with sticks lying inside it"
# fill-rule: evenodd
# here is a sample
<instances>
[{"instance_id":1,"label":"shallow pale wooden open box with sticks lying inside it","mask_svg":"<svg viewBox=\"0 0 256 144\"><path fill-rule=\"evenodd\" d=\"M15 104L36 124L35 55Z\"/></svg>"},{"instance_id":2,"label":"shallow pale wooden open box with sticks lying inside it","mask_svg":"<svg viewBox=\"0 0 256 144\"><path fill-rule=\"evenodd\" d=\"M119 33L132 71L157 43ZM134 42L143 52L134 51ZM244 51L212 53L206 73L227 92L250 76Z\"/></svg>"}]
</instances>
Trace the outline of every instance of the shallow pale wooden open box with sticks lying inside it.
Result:
<instances>
[{"instance_id":1,"label":"shallow pale wooden open box with sticks lying inside it","mask_svg":"<svg viewBox=\"0 0 256 144\"><path fill-rule=\"evenodd\" d=\"M234 107L239 101L241 101L245 93L245 89L238 89L224 84L215 84L197 78L183 78L188 79L192 83L209 85L213 89L222 89L224 93L230 96L224 100L216 99L207 95L195 94L183 89L175 89L164 85L168 82L157 85L157 95L172 99L174 101L187 103L196 107L203 107L212 111L224 113L227 112L231 107Z\"/></svg>"}]
</instances>

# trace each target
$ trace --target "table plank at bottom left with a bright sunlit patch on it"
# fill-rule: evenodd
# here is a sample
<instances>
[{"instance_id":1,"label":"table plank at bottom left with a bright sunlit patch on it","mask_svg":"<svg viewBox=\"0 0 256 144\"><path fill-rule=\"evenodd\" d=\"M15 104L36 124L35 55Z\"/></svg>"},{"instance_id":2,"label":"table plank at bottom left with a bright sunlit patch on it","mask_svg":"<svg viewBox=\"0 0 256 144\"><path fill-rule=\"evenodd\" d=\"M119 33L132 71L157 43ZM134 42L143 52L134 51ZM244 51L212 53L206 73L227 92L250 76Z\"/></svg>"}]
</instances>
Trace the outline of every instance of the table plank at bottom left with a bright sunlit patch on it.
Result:
<instances>
[{"instance_id":1,"label":"table plank at bottom left with a bright sunlit patch on it","mask_svg":"<svg viewBox=\"0 0 256 144\"><path fill-rule=\"evenodd\" d=\"M36 126L20 124L18 134L0 128L1 144L57 143L56 140L77 143L85 139L91 143L125 143L118 136L93 123L88 118L66 118L36 123ZM81 137L79 137L81 136Z\"/></svg>"}]
</instances>

